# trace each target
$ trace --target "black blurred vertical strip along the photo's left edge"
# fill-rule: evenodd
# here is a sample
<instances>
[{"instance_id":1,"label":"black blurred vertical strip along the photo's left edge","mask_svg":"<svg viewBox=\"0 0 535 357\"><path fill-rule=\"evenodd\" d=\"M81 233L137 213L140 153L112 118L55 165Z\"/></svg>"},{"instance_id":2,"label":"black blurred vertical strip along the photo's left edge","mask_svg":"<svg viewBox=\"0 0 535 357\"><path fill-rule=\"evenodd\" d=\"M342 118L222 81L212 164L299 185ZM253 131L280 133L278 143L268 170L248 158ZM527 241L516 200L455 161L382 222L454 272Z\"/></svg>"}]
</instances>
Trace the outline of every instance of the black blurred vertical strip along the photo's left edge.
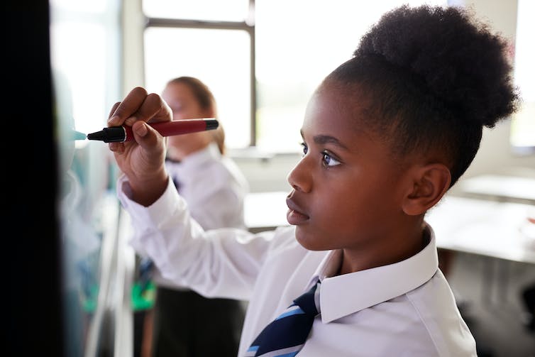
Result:
<instances>
[{"instance_id":1,"label":"black blurred vertical strip along the photo's left edge","mask_svg":"<svg viewBox=\"0 0 535 357\"><path fill-rule=\"evenodd\" d=\"M4 356L64 356L48 1L1 2ZM13 126L23 133L9 133Z\"/></svg>"}]
</instances>

